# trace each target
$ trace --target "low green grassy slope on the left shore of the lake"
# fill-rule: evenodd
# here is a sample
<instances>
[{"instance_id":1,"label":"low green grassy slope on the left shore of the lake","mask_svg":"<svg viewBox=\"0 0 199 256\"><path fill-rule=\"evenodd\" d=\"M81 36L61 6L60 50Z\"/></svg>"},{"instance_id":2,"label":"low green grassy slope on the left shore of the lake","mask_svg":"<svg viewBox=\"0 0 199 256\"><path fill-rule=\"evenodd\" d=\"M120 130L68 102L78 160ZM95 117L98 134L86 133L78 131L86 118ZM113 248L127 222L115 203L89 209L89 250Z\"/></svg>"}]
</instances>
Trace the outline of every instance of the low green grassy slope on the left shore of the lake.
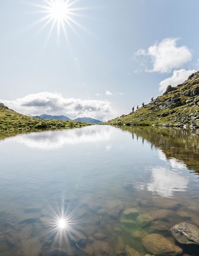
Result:
<instances>
[{"instance_id":1,"label":"low green grassy slope on the left shore of the lake","mask_svg":"<svg viewBox=\"0 0 199 256\"><path fill-rule=\"evenodd\" d=\"M60 121L36 119L21 115L0 103L0 132L4 131L27 131L34 129L66 129L90 125L78 121Z\"/></svg>"}]
</instances>

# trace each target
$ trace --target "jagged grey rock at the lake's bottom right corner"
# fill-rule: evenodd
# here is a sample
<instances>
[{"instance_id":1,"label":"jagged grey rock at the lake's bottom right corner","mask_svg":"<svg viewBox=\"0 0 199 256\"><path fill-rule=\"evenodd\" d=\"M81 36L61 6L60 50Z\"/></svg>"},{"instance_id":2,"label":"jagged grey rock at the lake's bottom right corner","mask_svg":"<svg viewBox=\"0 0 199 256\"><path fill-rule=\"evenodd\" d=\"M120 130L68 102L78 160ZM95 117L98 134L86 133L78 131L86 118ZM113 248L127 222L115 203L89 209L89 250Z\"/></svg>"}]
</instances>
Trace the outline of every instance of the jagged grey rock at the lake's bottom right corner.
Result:
<instances>
[{"instance_id":1,"label":"jagged grey rock at the lake's bottom right corner","mask_svg":"<svg viewBox=\"0 0 199 256\"><path fill-rule=\"evenodd\" d=\"M172 227L171 232L179 243L199 245L199 229L190 223L179 223Z\"/></svg>"}]
</instances>

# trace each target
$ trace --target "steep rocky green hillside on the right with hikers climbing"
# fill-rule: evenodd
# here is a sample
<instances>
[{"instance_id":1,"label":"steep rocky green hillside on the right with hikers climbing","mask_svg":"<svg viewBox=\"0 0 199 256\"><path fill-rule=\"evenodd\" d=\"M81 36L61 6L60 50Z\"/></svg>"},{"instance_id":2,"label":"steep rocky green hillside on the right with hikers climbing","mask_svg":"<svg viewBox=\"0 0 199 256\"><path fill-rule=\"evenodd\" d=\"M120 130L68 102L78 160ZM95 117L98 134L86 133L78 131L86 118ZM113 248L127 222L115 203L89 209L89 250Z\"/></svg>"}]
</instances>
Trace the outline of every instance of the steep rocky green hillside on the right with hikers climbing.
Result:
<instances>
[{"instance_id":1,"label":"steep rocky green hillside on the right with hikers climbing","mask_svg":"<svg viewBox=\"0 0 199 256\"><path fill-rule=\"evenodd\" d=\"M187 81L172 88L134 113L122 115L108 124L190 126L192 121L199 125L199 72Z\"/></svg>"}]
</instances>

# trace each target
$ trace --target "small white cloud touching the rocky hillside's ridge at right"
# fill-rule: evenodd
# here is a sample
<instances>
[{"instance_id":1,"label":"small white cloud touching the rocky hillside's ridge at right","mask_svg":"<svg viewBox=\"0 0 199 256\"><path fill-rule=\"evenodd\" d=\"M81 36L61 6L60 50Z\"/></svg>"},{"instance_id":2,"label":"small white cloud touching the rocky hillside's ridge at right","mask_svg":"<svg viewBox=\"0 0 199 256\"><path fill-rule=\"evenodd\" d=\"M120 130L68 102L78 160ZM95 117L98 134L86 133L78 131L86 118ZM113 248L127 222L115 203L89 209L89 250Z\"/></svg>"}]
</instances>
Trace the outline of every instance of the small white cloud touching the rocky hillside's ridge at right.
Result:
<instances>
[{"instance_id":1,"label":"small white cloud touching the rocky hillside's ridge at right","mask_svg":"<svg viewBox=\"0 0 199 256\"><path fill-rule=\"evenodd\" d=\"M195 73L196 70L191 69L191 70L186 70L186 69L179 69L179 70L174 70L172 76L166 78L165 80L161 81L159 83L159 91L164 92L167 88L168 85L171 86L177 86L178 84L183 83L188 79L188 77Z\"/></svg>"}]
</instances>

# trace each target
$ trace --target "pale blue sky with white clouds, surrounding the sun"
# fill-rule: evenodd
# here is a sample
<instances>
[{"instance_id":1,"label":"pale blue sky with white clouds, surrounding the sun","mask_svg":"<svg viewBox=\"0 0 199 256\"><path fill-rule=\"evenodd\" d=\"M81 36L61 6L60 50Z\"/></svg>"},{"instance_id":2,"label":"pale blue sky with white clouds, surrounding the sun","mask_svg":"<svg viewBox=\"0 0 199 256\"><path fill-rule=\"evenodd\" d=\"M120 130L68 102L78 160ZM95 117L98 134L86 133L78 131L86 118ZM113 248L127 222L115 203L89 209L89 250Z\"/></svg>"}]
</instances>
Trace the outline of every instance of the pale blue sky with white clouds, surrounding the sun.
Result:
<instances>
[{"instance_id":1,"label":"pale blue sky with white clouds, surrounding the sun","mask_svg":"<svg viewBox=\"0 0 199 256\"><path fill-rule=\"evenodd\" d=\"M79 0L67 40L47 39L37 4L0 3L0 102L16 111L105 120L199 70L198 0Z\"/></svg>"}]
</instances>

